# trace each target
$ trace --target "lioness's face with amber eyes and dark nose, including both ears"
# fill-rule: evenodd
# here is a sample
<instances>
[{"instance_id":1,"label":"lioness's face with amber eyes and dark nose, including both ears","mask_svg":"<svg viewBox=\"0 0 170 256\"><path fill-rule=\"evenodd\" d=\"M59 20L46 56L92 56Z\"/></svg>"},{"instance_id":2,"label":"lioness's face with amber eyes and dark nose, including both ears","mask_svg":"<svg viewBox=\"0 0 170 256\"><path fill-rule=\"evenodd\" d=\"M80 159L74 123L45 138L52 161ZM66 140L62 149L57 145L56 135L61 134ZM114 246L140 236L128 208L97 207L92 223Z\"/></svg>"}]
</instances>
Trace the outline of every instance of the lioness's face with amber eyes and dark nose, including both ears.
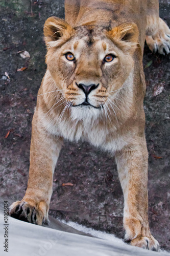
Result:
<instances>
[{"instance_id":1,"label":"lioness's face with amber eyes and dark nose, including both ears","mask_svg":"<svg viewBox=\"0 0 170 256\"><path fill-rule=\"evenodd\" d=\"M72 29L63 20L49 19L44 26L46 62L57 87L74 108L103 108L133 69L137 44L133 26L127 24L129 30L121 25L119 30L97 26Z\"/></svg>"}]
</instances>

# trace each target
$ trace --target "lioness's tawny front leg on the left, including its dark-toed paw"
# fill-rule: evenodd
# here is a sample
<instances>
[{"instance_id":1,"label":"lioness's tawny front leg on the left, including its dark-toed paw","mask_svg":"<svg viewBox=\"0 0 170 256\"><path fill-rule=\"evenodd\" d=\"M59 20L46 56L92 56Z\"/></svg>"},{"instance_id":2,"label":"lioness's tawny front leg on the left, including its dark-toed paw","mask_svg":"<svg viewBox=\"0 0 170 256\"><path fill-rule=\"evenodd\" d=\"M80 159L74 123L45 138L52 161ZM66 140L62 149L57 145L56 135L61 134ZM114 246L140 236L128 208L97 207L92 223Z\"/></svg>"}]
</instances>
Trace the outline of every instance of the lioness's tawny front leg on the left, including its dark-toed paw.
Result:
<instances>
[{"instance_id":1,"label":"lioness's tawny front leg on the left, including its dark-toed paw","mask_svg":"<svg viewBox=\"0 0 170 256\"><path fill-rule=\"evenodd\" d=\"M53 172L61 145L61 138L48 135L40 127L35 112L32 122L28 188L23 199L10 206L10 216L38 225L41 225L42 221L48 222Z\"/></svg>"}]
</instances>

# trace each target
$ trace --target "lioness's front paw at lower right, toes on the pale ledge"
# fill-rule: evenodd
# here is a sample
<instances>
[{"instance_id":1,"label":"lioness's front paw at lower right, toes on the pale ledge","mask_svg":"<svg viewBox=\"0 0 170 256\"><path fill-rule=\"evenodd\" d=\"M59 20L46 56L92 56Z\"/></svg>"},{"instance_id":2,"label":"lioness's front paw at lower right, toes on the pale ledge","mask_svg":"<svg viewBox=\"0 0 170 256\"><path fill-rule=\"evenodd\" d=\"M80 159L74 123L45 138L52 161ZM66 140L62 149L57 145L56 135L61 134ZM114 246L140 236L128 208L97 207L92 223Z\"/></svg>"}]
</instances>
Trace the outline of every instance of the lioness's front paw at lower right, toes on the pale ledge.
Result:
<instances>
[{"instance_id":1,"label":"lioness's front paw at lower right, toes on the pale ledge","mask_svg":"<svg viewBox=\"0 0 170 256\"><path fill-rule=\"evenodd\" d=\"M143 249L159 251L159 243L153 236L134 238L130 241L130 244Z\"/></svg>"}]
</instances>

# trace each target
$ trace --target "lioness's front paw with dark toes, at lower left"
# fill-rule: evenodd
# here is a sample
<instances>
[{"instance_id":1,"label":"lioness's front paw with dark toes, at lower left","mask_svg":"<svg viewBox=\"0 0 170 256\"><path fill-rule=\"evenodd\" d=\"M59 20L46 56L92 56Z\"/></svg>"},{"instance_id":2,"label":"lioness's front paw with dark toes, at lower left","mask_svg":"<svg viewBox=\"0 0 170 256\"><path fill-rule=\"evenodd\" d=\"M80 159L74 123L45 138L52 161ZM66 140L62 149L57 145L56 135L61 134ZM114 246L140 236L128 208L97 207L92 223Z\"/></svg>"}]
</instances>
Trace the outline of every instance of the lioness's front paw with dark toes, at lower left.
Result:
<instances>
[{"instance_id":1,"label":"lioness's front paw with dark toes, at lower left","mask_svg":"<svg viewBox=\"0 0 170 256\"><path fill-rule=\"evenodd\" d=\"M36 225L42 225L45 220L44 214L39 208L24 201L16 201L11 204L9 215L15 219Z\"/></svg>"}]
</instances>

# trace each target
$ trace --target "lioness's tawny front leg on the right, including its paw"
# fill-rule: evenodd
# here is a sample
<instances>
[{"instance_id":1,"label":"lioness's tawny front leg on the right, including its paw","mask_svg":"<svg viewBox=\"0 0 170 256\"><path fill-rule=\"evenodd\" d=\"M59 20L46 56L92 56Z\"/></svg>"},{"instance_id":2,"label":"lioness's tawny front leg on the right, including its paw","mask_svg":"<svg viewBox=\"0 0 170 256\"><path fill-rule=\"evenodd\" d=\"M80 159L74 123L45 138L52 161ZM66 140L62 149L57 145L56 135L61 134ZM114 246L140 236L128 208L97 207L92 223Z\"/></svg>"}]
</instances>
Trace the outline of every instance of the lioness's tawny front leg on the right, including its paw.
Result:
<instances>
[{"instance_id":1,"label":"lioness's tawny front leg on the right, including its paw","mask_svg":"<svg viewBox=\"0 0 170 256\"><path fill-rule=\"evenodd\" d=\"M148 151L144 138L139 144L116 153L118 175L124 193L125 240L141 248L159 250L148 223Z\"/></svg>"}]
</instances>

